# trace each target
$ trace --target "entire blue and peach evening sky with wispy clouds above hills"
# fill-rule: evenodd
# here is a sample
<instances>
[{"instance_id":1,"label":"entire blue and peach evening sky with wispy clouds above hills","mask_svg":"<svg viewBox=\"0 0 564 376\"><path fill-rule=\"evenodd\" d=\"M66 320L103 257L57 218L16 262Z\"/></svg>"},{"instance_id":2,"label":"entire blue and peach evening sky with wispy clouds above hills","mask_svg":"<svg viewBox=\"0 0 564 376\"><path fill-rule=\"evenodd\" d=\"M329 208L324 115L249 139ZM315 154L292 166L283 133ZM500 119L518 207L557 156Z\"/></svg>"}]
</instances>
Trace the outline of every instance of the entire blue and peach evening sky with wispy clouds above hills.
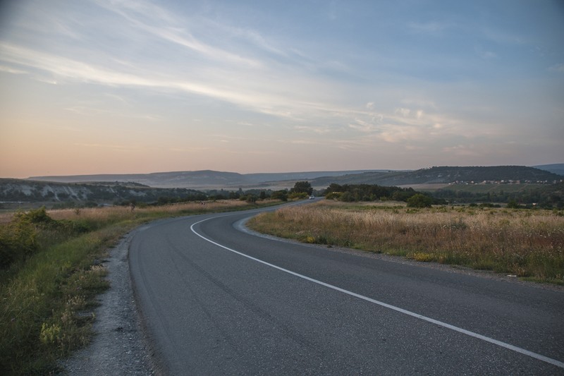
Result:
<instances>
[{"instance_id":1,"label":"entire blue and peach evening sky with wispy clouds above hills","mask_svg":"<svg viewBox=\"0 0 564 376\"><path fill-rule=\"evenodd\" d=\"M564 1L0 1L0 177L564 163Z\"/></svg>"}]
</instances>

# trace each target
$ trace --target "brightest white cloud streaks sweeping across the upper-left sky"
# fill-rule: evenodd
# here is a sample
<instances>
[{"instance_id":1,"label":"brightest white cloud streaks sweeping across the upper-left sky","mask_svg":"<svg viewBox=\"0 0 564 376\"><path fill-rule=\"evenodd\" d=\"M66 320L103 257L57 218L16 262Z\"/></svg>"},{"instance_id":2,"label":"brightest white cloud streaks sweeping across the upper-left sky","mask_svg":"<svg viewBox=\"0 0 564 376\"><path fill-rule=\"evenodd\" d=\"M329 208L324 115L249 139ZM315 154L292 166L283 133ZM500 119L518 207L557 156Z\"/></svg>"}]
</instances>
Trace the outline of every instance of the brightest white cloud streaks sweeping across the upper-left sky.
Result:
<instances>
[{"instance_id":1,"label":"brightest white cloud streaks sweeping across the upper-left sky","mask_svg":"<svg viewBox=\"0 0 564 376\"><path fill-rule=\"evenodd\" d=\"M73 54L53 54L7 42L0 42L0 60L48 73L47 80L52 82L63 83L65 80L71 80L109 87L143 87L156 92L173 90L212 97L243 109L293 122L318 119L323 123L335 123L337 119L342 118L346 123L345 119L350 119L350 116L355 114L354 108L339 109L341 105L335 101L324 102L322 97L336 90L331 87L330 80L309 77L310 72L307 70L296 71L295 66L284 66L280 63L275 64L275 68L266 68L264 71L249 71L249 66L266 65L256 59L242 58L200 42L183 28L183 23L175 15L159 6L143 1L137 3L99 0L97 4L125 18L136 30L148 32L160 40L179 44L218 63L211 66L205 63L190 65L191 70L204 74L192 74L174 65L170 66L171 71L164 69L155 72L150 64L144 66L142 62L116 59L103 52L96 55L97 59L86 63L80 60L80 56ZM247 38L274 54L284 54L281 49L272 47L262 35L253 30L231 27L225 27L223 30L227 30L231 35ZM164 63L166 56L163 56L163 59ZM40 77L46 79L44 76ZM373 102L371 106L374 106ZM80 107L70 109L87 111ZM316 133L327 132L328 129L309 127L309 131Z\"/></svg>"}]
</instances>

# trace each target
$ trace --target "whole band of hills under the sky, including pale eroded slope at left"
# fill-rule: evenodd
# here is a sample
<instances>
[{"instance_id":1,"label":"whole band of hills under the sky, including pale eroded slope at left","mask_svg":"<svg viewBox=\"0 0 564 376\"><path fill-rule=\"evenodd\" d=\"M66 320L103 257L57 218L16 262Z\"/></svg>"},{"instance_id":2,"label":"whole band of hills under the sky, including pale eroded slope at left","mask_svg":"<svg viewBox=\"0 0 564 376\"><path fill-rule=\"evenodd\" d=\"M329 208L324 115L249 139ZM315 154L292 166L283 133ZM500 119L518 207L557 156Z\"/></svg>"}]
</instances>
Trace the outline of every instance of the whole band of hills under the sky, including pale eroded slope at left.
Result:
<instances>
[{"instance_id":1,"label":"whole band of hills under the sky, including pale eroded slope at left","mask_svg":"<svg viewBox=\"0 0 564 376\"><path fill-rule=\"evenodd\" d=\"M416 171L312 171L284 174L238 174L222 171L180 171L154 174L40 176L30 179L1 179L1 202L56 203L78 205L115 202L173 202L204 200L207 190L278 190L292 188L296 181L309 181L324 190L331 183L341 186L420 186L462 183L534 183L552 185L564 176L527 166L440 166ZM560 186L562 183L560 183ZM416 188L417 189L417 188ZM561 188L559 188L561 189ZM225 190L225 191L223 191ZM460 190L460 188L458 188ZM212 195L215 193L211 193ZM258 193L255 193L258 194ZM560 197L560 196L558 196ZM170 199L171 201L167 201Z\"/></svg>"}]
</instances>

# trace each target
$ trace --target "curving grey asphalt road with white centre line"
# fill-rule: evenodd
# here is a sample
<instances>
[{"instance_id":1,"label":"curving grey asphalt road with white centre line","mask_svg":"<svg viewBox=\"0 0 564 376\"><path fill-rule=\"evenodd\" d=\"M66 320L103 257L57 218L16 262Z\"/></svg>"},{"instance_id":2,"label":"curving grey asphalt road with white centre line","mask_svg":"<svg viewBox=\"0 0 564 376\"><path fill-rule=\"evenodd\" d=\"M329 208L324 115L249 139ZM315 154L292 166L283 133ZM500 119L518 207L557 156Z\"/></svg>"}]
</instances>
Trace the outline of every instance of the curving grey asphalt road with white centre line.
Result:
<instances>
[{"instance_id":1,"label":"curving grey asphalt road with white centre line","mask_svg":"<svg viewBox=\"0 0 564 376\"><path fill-rule=\"evenodd\" d=\"M564 293L167 219L130 245L168 375L564 375Z\"/></svg>"}]
</instances>

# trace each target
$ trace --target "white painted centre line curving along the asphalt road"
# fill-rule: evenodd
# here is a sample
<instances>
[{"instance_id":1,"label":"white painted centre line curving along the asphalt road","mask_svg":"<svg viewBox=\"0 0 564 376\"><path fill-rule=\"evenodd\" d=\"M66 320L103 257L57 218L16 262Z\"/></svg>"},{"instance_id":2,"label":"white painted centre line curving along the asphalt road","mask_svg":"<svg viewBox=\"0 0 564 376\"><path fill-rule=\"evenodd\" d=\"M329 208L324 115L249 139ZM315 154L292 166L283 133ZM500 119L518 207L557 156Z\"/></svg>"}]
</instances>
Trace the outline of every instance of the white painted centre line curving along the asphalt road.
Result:
<instances>
[{"instance_id":1,"label":"white painted centre line curving along the asphalt road","mask_svg":"<svg viewBox=\"0 0 564 376\"><path fill-rule=\"evenodd\" d=\"M409 310L404 310L403 308L399 308L399 307L396 307L395 305L390 305L390 304L388 304L388 303L384 303L384 302L381 302L381 301L376 301L376 299L372 299L372 298L369 298L369 297L367 297L367 296L360 295L360 294L358 294L358 293L353 293L353 291L348 291L348 290L345 290L345 289L341 289L341 287L333 286L332 284L326 284L326 283L323 282L323 281L319 281L319 280L317 280L317 279L313 279L313 278L307 277L307 276L305 276L305 275L303 275L303 274L299 274L299 273L296 273L296 272L292 272L291 270L284 269L283 267L278 267L278 266L276 266L276 265L274 265L274 264L271 264L270 262L266 262L266 261L263 261L263 260L259 260L259 259L255 258L255 257L250 256L250 255L245 255L245 253L240 253L238 250L234 250L234 249L232 249L232 248L226 247L225 245L221 245L221 244L219 244L219 243L216 243L215 241L212 241L212 239L206 238L205 236L203 236L203 235L201 235L201 234L198 234L198 233L195 231L195 229L194 229L194 226L195 226L195 225L200 224L200 223L202 223L202 222L205 222L205 221L207 221L207 220L209 220L209 219L214 219L214 218L216 218L216 217L207 218L207 219L202 219L202 220L199 221L199 222L195 222L195 224L192 224L192 226L190 226L190 230L192 230L192 232L193 232L194 234L196 234L197 236L200 236L200 238L204 239L204 241L209 241L209 243L212 243L212 244L214 244L214 245L217 245L218 247L221 247L221 248L223 248L223 249L226 249L226 250L228 250L228 251L230 251L230 252L236 253L236 254L241 255L241 256L243 256L243 257L247 257L247 258L249 258L250 260L253 260L253 261L256 261L256 262L260 262L261 264L268 265L269 267L274 267L274 269L281 270L282 272L286 272L286 273L288 273L288 274L292 274L292 275L295 276L295 277L299 277L299 278L302 278L302 279L306 279L307 281L311 281L311 282L313 282L313 283L315 283L315 284L320 284L321 286L329 287L329 289L333 289L333 290L336 290L336 291L340 291L341 293L346 293L346 294L348 294L348 295L350 295L350 296L354 296L355 298L362 299L363 301L368 301L368 302L370 302L370 303L374 303L374 304L377 304L377 305L381 305L382 307L389 308L389 309L391 309L391 310L395 310L395 311L397 311L397 312L399 312L399 313L403 313L404 315L408 315L408 316L412 316L412 317L417 317L419 320L424 320L424 321L427 321L427 322L431 322L432 324L436 324L436 325L439 325L439 326L441 326L441 327L445 327L445 328L447 328L447 329L454 330L455 332L459 332L459 333L462 333L462 334L466 334L467 336L472 336L472 337L477 338L477 339L482 339L482 341L489 342L490 344L494 344L494 345L497 345L497 346L501 346L501 347L504 347L504 348L508 348L509 350L515 351L515 352L517 352L517 353L521 353L521 354L523 354L523 355L530 356L530 357L535 358L535 359L538 359L538 360L542 360L542 361L544 361L544 362L546 362L546 363L550 363L550 364L552 364L552 365L556 365L556 367L564 368L564 363L563 363L563 362L560 362L559 360L556 360L556 359L553 359L553 358L548 358L547 356L544 356L544 355L541 355L541 354L538 354L538 353L534 353L534 352L529 351L529 350L525 350L525 348L520 348L520 347L517 347L517 346L513 346L512 344L506 344L505 342L498 341L497 339L490 338L489 336L483 336L482 334L470 332L470 330L466 330L466 329L462 329L462 328L459 328L459 327L455 327L454 325L447 324L446 322L442 322L442 321L439 321L439 320L431 319L431 317L419 315L419 313L411 312L411 311L409 311Z\"/></svg>"}]
</instances>

